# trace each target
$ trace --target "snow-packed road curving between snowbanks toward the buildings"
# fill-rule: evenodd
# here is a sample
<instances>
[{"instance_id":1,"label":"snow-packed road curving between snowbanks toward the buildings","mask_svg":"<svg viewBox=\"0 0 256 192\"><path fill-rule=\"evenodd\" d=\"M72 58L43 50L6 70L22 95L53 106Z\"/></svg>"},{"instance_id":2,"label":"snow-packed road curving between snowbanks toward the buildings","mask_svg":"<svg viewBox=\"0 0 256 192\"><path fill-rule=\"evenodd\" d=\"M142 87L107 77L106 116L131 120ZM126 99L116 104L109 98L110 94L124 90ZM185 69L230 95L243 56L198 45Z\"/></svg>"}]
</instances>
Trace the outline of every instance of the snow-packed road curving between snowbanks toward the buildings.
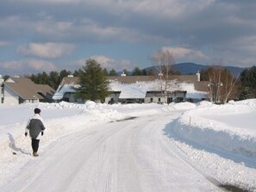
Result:
<instances>
[{"instance_id":1,"label":"snow-packed road curving between snowbanks toward the buildings","mask_svg":"<svg viewBox=\"0 0 256 192\"><path fill-rule=\"evenodd\" d=\"M178 115L144 116L68 134L28 160L1 191L221 191L165 136L163 129Z\"/></svg>"}]
</instances>

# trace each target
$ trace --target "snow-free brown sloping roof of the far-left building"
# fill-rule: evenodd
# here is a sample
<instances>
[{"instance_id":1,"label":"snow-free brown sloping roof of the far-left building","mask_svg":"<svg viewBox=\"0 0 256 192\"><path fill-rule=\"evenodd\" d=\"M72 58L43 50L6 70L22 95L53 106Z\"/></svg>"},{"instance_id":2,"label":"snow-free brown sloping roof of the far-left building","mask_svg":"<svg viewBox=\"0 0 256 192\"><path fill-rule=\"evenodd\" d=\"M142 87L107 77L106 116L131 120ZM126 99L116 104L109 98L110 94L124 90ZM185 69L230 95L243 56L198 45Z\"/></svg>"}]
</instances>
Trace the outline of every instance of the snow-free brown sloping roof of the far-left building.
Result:
<instances>
[{"instance_id":1,"label":"snow-free brown sloping roof of the far-left building","mask_svg":"<svg viewBox=\"0 0 256 192\"><path fill-rule=\"evenodd\" d=\"M34 84L26 77L9 77L3 84L13 90L17 96L22 97L22 99L43 99L43 96L53 96L55 92L49 85Z\"/></svg>"}]
</instances>

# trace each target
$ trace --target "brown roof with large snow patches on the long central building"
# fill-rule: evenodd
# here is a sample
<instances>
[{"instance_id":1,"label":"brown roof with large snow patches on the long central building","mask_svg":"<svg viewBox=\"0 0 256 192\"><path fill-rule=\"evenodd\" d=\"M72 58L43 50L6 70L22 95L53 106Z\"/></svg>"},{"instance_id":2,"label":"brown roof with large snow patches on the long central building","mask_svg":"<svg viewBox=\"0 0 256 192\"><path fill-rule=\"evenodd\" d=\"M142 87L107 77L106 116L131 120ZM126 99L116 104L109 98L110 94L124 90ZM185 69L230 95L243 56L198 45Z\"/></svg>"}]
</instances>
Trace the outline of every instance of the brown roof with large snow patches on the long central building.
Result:
<instances>
[{"instance_id":1,"label":"brown roof with large snow patches on the long central building","mask_svg":"<svg viewBox=\"0 0 256 192\"><path fill-rule=\"evenodd\" d=\"M120 91L120 98L144 98L147 91L159 91L159 77L157 76L109 76L109 88L112 91ZM182 90L178 84L192 83L193 89L205 91L203 82L197 82L197 75L172 75L172 86L167 88L168 91ZM75 92L74 86L78 85L78 77L64 77L56 90L53 99L62 99L66 92ZM195 86L194 86L195 84ZM133 91L131 91L131 89ZM132 95L131 95L132 93Z\"/></svg>"}]
</instances>

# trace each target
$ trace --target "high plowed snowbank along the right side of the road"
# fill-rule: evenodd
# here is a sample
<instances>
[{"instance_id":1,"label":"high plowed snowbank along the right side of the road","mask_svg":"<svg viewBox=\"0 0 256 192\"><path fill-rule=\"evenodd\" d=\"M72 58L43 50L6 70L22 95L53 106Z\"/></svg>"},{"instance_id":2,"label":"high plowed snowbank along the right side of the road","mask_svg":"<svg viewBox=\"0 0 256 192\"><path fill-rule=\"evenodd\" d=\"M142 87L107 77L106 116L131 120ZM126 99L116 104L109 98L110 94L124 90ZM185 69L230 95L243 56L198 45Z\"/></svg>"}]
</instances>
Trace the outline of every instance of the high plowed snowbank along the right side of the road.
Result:
<instances>
[{"instance_id":1,"label":"high plowed snowbank along the right side of the road","mask_svg":"<svg viewBox=\"0 0 256 192\"><path fill-rule=\"evenodd\" d=\"M199 146L256 158L255 116L256 100L219 106L201 102L178 118L173 132Z\"/></svg>"}]
</instances>

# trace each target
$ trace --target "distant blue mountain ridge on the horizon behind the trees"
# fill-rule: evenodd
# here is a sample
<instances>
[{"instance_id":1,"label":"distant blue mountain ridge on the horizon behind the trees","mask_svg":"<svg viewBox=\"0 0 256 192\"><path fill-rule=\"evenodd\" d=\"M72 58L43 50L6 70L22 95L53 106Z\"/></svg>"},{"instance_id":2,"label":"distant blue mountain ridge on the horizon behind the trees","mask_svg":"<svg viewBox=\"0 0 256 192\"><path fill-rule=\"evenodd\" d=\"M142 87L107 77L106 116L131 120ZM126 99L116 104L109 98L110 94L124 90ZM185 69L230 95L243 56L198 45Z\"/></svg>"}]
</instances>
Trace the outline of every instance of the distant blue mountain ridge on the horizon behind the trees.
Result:
<instances>
[{"instance_id":1,"label":"distant blue mountain ridge on the horizon behind the trees","mask_svg":"<svg viewBox=\"0 0 256 192\"><path fill-rule=\"evenodd\" d=\"M214 67L218 68L219 65L213 65ZM153 69L154 67L147 67L145 70L149 71ZM196 74L197 71L201 70L207 70L209 68L209 65L199 65L194 63L179 63L172 65L172 69L174 71L180 71L182 75L188 75L190 73ZM247 68L240 68L236 66L222 66L223 69L228 69L234 77L238 77L240 72L244 71Z\"/></svg>"}]
</instances>

